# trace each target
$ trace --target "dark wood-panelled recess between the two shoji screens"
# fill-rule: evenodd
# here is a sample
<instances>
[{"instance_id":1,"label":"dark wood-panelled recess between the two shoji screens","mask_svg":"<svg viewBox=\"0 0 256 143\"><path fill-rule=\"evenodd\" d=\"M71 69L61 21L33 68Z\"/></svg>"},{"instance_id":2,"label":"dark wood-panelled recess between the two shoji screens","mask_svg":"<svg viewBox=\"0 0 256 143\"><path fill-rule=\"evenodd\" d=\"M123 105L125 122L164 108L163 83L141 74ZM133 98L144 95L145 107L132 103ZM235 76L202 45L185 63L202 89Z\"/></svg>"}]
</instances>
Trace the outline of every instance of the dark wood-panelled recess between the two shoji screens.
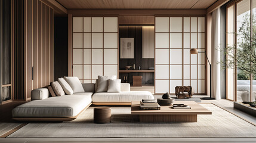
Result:
<instances>
[{"instance_id":1,"label":"dark wood-panelled recess between the two shoji screens","mask_svg":"<svg viewBox=\"0 0 256 143\"><path fill-rule=\"evenodd\" d=\"M155 67L155 40L154 40L155 26L119 26L119 41L121 38L133 38L134 58L119 57L119 70L125 70L125 66L135 64L135 70L149 70L150 67ZM121 42L119 43L119 55L121 55ZM125 76L128 83L132 85L132 76L143 76L143 85L154 85L154 72L119 72L119 77L122 82L125 82Z\"/></svg>"}]
</instances>

